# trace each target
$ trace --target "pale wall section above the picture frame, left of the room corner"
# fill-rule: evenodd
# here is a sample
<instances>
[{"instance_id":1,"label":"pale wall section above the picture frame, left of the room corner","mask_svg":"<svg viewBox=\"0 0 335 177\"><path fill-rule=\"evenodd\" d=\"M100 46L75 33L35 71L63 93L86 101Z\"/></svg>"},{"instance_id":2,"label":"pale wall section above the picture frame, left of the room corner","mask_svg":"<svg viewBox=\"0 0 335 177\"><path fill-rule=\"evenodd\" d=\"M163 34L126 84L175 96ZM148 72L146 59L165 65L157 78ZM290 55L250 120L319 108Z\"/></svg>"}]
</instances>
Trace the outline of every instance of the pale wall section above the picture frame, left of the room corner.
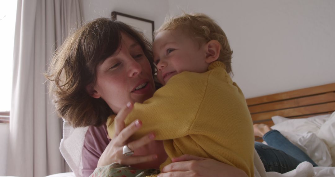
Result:
<instances>
[{"instance_id":1,"label":"pale wall section above the picture frame, left of the room corner","mask_svg":"<svg viewBox=\"0 0 335 177\"><path fill-rule=\"evenodd\" d=\"M99 17L111 17L117 11L155 22L158 28L163 22L169 4L167 0L82 0L85 21Z\"/></svg>"}]
</instances>

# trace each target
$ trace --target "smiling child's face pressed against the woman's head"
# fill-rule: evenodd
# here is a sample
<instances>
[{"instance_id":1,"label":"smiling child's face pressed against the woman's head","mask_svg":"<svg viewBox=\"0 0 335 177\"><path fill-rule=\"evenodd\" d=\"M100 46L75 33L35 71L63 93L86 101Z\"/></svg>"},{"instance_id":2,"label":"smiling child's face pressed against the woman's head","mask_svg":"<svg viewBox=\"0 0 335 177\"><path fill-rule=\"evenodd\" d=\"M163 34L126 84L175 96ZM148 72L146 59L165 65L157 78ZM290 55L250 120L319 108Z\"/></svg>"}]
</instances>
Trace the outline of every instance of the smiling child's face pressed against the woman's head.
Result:
<instances>
[{"instance_id":1,"label":"smiling child's face pressed against the woman's head","mask_svg":"<svg viewBox=\"0 0 335 177\"><path fill-rule=\"evenodd\" d=\"M159 32L153 42L154 62L161 84L183 71L202 73L209 66L205 62L205 42L199 46L195 39L181 29Z\"/></svg>"}]
</instances>

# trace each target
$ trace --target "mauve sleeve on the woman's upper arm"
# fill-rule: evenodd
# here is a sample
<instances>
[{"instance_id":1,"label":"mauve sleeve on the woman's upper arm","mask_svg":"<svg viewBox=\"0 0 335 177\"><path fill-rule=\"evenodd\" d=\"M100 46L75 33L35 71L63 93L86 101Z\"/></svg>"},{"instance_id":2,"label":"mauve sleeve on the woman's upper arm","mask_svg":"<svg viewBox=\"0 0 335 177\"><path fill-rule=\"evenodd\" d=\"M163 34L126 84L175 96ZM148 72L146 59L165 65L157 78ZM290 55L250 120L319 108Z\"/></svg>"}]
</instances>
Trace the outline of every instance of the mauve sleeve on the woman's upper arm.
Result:
<instances>
[{"instance_id":1,"label":"mauve sleeve on the woman's upper arm","mask_svg":"<svg viewBox=\"0 0 335 177\"><path fill-rule=\"evenodd\" d=\"M99 127L90 126L88 128L82 150L83 177L90 176L97 167L100 156L110 142L107 135L106 124Z\"/></svg>"}]
</instances>

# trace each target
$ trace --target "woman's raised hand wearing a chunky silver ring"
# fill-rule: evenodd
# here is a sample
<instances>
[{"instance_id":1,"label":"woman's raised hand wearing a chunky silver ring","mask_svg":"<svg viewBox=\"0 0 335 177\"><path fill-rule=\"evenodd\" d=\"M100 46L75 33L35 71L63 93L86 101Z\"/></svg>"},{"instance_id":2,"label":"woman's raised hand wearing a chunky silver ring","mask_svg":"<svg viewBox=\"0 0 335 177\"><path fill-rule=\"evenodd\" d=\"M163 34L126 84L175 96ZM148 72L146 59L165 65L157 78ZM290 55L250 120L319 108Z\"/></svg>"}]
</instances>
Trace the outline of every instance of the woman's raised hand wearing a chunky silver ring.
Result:
<instances>
[{"instance_id":1,"label":"woman's raised hand wearing a chunky silver ring","mask_svg":"<svg viewBox=\"0 0 335 177\"><path fill-rule=\"evenodd\" d=\"M142 126L142 122L140 120L135 120L129 126L125 127L124 120L132 108L133 104L128 103L127 106L123 108L115 117L115 136L111 139L105 151L100 156L97 167L110 165L114 162L119 162L124 166L129 166L157 159L156 154L148 155L148 153L143 153L146 149L144 145L153 142L153 139L155 138L153 133L150 133L141 139L128 142L129 137ZM131 150L135 151L134 156L122 155L123 146L126 144Z\"/></svg>"}]
</instances>

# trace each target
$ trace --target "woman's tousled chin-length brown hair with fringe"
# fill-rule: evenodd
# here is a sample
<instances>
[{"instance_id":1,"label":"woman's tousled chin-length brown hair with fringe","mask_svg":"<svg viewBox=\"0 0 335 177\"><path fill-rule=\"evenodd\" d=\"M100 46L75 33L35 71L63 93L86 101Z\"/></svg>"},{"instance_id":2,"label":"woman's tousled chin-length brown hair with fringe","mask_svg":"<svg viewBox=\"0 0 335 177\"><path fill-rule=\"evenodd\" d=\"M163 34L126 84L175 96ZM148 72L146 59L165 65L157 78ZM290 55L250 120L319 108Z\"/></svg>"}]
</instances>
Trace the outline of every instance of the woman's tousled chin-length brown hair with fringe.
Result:
<instances>
[{"instance_id":1,"label":"woman's tousled chin-length brown hair with fringe","mask_svg":"<svg viewBox=\"0 0 335 177\"><path fill-rule=\"evenodd\" d=\"M108 18L84 24L56 50L45 75L58 114L72 126L99 126L113 114L102 98L88 95L86 86L95 83L96 66L118 49L121 32L139 43L154 72L151 44L131 26Z\"/></svg>"}]
</instances>

